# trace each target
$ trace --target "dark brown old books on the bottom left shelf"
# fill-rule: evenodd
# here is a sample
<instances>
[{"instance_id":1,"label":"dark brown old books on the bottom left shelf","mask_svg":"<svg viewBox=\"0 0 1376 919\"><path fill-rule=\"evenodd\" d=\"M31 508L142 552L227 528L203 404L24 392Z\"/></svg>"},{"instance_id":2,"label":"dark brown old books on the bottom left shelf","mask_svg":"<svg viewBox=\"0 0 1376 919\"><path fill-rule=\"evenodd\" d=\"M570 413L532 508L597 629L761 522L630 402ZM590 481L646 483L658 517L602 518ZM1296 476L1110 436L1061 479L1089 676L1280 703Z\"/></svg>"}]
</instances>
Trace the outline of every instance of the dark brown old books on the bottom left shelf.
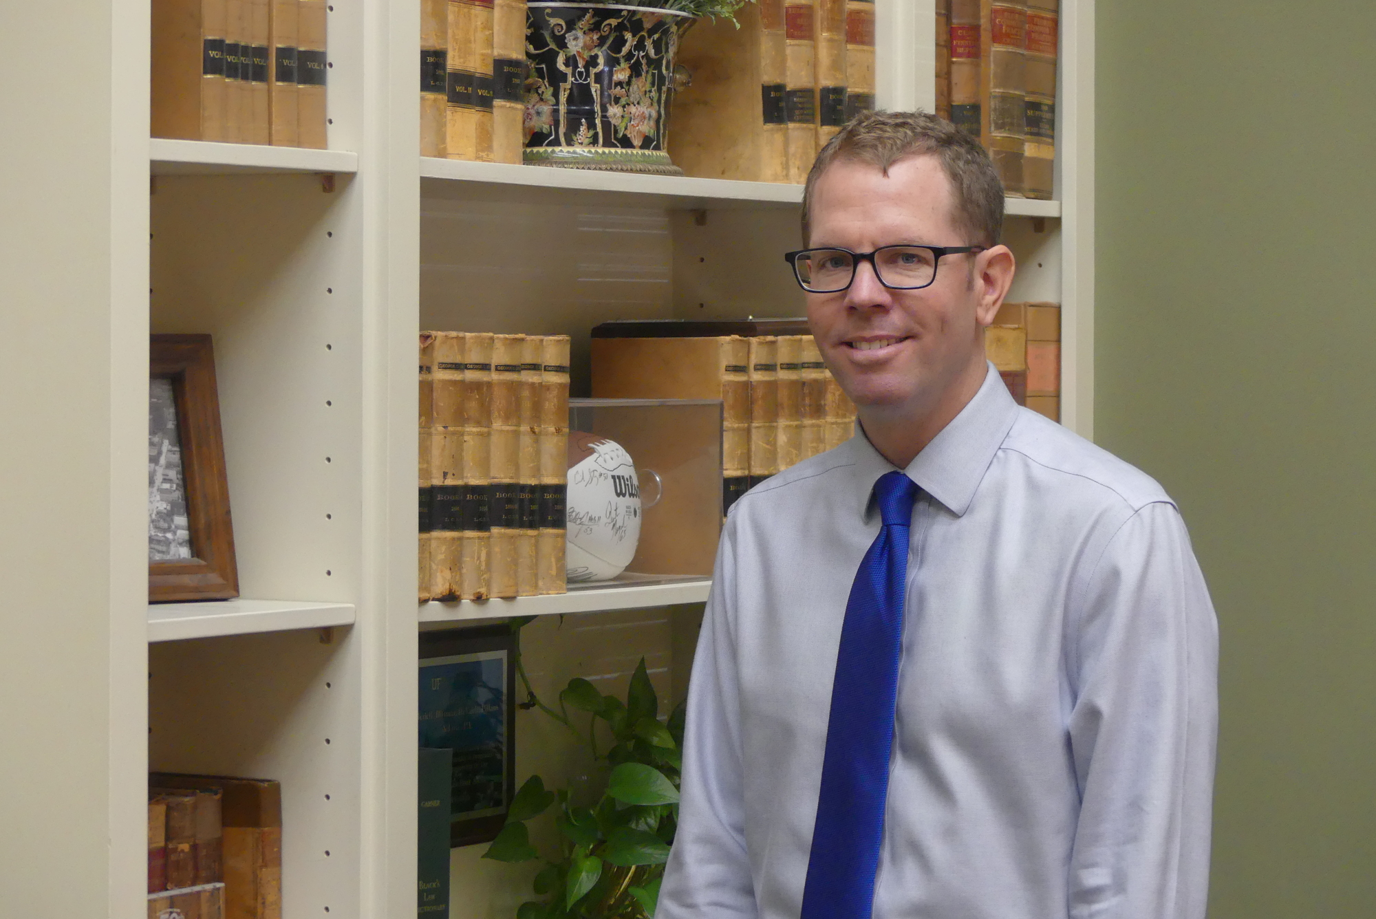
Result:
<instances>
[{"instance_id":1,"label":"dark brown old books on the bottom left shelf","mask_svg":"<svg viewBox=\"0 0 1376 919\"><path fill-rule=\"evenodd\" d=\"M282 787L149 776L149 919L282 919Z\"/></svg>"}]
</instances>

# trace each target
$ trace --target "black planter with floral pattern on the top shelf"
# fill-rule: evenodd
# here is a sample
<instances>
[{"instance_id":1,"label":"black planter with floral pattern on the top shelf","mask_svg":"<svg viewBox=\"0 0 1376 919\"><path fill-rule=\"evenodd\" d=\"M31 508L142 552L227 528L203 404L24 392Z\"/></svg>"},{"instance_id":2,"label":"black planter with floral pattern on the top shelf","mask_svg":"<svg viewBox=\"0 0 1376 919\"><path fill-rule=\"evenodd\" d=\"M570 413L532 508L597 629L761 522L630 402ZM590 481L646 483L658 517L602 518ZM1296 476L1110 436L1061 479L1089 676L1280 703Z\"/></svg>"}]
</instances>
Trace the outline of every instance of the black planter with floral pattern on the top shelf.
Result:
<instances>
[{"instance_id":1,"label":"black planter with floral pattern on the top shelf","mask_svg":"<svg viewBox=\"0 0 1376 919\"><path fill-rule=\"evenodd\" d=\"M692 22L667 10L531 3L524 161L682 175L665 135L678 39Z\"/></svg>"}]
</instances>

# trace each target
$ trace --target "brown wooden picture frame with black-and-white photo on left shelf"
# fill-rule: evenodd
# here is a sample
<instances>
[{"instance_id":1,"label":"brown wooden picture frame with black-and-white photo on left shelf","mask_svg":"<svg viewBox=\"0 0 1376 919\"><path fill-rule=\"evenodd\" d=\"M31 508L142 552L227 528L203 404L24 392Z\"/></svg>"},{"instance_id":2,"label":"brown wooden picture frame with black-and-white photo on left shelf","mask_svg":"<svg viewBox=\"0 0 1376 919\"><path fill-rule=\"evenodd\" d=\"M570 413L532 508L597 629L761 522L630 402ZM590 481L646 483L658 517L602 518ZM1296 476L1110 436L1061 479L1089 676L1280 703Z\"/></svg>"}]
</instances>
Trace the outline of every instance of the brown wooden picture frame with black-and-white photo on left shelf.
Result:
<instances>
[{"instance_id":1,"label":"brown wooden picture frame with black-and-white photo on left shelf","mask_svg":"<svg viewBox=\"0 0 1376 919\"><path fill-rule=\"evenodd\" d=\"M155 334L149 352L149 603L238 597L211 336Z\"/></svg>"}]
</instances>

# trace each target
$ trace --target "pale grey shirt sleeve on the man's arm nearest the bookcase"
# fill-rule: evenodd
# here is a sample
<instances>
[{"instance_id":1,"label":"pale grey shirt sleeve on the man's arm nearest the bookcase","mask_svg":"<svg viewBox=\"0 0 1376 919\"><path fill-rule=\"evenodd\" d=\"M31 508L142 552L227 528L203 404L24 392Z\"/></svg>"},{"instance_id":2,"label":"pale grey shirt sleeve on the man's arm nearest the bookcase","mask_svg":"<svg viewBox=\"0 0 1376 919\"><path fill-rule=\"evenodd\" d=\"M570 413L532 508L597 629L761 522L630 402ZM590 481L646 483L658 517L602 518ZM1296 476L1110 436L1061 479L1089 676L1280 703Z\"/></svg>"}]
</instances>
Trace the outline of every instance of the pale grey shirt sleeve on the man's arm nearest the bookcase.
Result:
<instances>
[{"instance_id":1,"label":"pale grey shirt sleeve on the man's arm nearest the bookcase","mask_svg":"<svg viewBox=\"0 0 1376 919\"><path fill-rule=\"evenodd\" d=\"M732 531L728 521L698 636L684 729L678 831L656 919L758 916L744 834Z\"/></svg>"}]
</instances>

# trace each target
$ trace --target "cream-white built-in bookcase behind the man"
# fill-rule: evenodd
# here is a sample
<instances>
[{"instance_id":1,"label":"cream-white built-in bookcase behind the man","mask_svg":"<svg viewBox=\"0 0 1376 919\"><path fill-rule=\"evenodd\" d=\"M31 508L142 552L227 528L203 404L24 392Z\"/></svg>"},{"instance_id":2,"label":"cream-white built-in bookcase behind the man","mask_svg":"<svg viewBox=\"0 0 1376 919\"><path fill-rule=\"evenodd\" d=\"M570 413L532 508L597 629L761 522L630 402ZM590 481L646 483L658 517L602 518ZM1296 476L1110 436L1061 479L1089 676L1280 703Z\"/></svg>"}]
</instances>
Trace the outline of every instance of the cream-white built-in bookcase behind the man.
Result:
<instances>
[{"instance_id":1,"label":"cream-white built-in bookcase behind the man","mask_svg":"<svg viewBox=\"0 0 1376 919\"><path fill-rule=\"evenodd\" d=\"M881 105L930 106L930 1L878 15ZM677 696L707 590L417 614L416 332L570 333L577 387L605 319L798 315L776 263L801 190L421 160L414 0L330 7L329 150L150 142L147 21L147 0L0 11L36 74L0 99L0 913L61 891L143 916L151 766L283 781L288 919L409 915L418 629L618 611L537 623L533 678L645 653ZM1062 304L1062 417L1091 436L1093 0L1061 23L1057 199L1009 201L1006 241L1013 297ZM39 78L58 47L83 80ZM215 336L238 601L146 603L150 330ZM472 854L464 919L522 880Z\"/></svg>"}]
</instances>

